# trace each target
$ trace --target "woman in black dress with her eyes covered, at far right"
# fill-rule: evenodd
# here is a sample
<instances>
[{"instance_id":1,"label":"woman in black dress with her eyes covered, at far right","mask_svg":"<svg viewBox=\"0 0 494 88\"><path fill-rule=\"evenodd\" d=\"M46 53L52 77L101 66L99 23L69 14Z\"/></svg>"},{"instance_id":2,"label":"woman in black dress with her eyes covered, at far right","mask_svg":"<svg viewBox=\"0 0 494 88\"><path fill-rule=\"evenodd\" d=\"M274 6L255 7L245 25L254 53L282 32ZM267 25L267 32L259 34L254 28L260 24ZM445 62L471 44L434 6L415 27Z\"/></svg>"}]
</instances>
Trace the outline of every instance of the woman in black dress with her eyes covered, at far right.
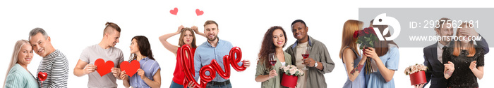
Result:
<instances>
[{"instance_id":1,"label":"woman in black dress with her eyes covered, at far right","mask_svg":"<svg viewBox=\"0 0 494 88\"><path fill-rule=\"evenodd\" d=\"M467 25L467 26L466 26ZM474 34L463 34L462 31L471 31L473 26L463 23L457 29L456 36L459 41L454 41L442 52L442 62L445 63L445 78L447 87L464 88L478 87L477 78L483 77L483 48L474 45L471 36ZM478 35L478 34L477 34ZM463 40L463 36L464 39ZM475 40L473 38L473 40Z\"/></svg>"}]
</instances>

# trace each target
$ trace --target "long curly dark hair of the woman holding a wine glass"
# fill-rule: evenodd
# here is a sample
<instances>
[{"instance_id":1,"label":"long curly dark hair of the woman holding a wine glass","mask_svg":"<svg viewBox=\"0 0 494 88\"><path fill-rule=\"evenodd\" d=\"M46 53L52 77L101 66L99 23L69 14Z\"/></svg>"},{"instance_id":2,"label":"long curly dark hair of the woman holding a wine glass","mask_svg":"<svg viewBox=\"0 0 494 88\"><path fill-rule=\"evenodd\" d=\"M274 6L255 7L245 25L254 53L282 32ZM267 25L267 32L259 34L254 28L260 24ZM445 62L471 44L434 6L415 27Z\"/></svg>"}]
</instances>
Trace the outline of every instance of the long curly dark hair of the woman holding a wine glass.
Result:
<instances>
[{"instance_id":1,"label":"long curly dark hair of the woman holding a wine glass","mask_svg":"<svg viewBox=\"0 0 494 88\"><path fill-rule=\"evenodd\" d=\"M270 29L267 29L266 31L266 34L264 34L264 38L263 38L263 43L261 43L261 46L260 46L260 51L259 51L259 54L258 54L258 57L259 57L259 62L261 62L261 64L264 64L264 66L268 69L270 69L272 66L269 62L269 54L270 53L275 53L276 52L276 46L275 44L273 44L273 40L272 40L272 32L275 31L276 29L281 29L283 31L283 36L284 37L284 40L285 40L285 43L283 44L283 47L285 45L287 45L287 33L285 33L285 31L283 30L282 27L279 27L279 26L275 26L275 27L271 27Z\"/></svg>"}]
</instances>

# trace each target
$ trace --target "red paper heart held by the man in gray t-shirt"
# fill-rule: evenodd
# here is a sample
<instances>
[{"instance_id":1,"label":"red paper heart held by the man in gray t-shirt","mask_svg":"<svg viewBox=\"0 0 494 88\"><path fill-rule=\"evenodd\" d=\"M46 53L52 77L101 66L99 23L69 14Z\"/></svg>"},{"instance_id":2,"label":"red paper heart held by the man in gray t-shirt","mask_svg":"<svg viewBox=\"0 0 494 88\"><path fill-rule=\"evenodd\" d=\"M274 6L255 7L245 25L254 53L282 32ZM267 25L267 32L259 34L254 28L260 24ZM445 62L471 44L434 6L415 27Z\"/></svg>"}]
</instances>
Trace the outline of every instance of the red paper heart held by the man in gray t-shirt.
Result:
<instances>
[{"instance_id":1,"label":"red paper heart held by the man in gray t-shirt","mask_svg":"<svg viewBox=\"0 0 494 88\"><path fill-rule=\"evenodd\" d=\"M95 61L96 71L100 73L100 76L107 75L112 72L112 68L115 66L113 61L104 62L103 59L96 59Z\"/></svg>"}]
</instances>

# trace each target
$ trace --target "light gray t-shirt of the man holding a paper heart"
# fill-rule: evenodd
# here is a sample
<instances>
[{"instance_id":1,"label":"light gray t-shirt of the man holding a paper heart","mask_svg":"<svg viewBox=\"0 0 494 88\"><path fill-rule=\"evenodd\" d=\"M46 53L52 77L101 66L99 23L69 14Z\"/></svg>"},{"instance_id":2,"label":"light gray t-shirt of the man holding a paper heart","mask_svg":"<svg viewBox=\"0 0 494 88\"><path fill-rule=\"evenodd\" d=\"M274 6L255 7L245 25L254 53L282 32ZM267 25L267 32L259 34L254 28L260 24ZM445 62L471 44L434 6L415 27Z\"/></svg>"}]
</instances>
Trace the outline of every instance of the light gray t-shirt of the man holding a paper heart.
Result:
<instances>
[{"instance_id":1,"label":"light gray t-shirt of the man holding a paper heart","mask_svg":"<svg viewBox=\"0 0 494 88\"><path fill-rule=\"evenodd\" d=\"M119 48L110 47L103 49L100 45L91 45L83 50L80 54L80 60L95 64L96 59L104 59L104 61L113 61L116 68L119 68L123 61L123 52ZM88 87L117 87L116 78L113 73L100 76L97 71L89 73Z\"/></svg>"}]
</instances>

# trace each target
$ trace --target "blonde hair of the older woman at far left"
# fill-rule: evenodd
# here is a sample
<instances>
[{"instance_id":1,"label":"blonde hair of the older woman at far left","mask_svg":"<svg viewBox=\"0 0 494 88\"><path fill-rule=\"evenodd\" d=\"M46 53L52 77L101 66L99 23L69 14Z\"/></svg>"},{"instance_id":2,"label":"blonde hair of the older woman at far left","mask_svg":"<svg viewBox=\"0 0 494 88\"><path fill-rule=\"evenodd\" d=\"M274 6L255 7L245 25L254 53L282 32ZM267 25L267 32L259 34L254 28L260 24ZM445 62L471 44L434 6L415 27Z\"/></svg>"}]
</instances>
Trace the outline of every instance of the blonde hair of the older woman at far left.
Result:
<instances>
[{"instance_id":1,"label":"blonde hair of the older woman at far left","mask_svg":"<svg viewBox=\"0 0 494 88\"><path fill-rule=\"evenodd\" d=\"M11 68L17 64L19 51L20 51L20 48L23 47L23 45L31 45L31 44L27 40L19 40L16 42L15 47L13 47L12 59L11 59L11 63L8 64L8 68L6 71L7 73L5 74L5 80L4 80L4 86L3 87L5 87L8 72L11 71Z\"/></svg>"}]
</instances>

